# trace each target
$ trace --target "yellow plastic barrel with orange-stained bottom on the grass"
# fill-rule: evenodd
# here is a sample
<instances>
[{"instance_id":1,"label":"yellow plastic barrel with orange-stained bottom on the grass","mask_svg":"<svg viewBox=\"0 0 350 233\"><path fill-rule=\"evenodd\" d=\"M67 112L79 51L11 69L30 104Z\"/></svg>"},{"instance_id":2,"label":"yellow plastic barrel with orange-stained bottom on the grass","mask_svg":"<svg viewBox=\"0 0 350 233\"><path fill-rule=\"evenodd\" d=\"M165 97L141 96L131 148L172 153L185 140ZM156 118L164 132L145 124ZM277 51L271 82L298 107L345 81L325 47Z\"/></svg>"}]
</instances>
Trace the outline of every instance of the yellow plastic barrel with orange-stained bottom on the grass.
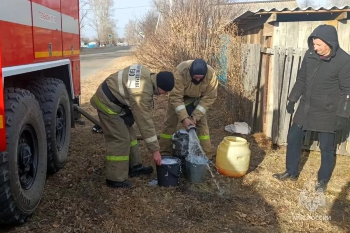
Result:
<instances>
[{"instance_id":1,"label":"yellow plastic barrel with orange-stained bottom on the grass","mask_svg":"<svg viewBox=\"0 0 350 233\"><path fill-rule=\"evenodd\" d=\"M249 142L241 137L224 137L217 148L216 167L218 171L230 177L242 177L250 163Z\"/></svg>"}]
</instances>

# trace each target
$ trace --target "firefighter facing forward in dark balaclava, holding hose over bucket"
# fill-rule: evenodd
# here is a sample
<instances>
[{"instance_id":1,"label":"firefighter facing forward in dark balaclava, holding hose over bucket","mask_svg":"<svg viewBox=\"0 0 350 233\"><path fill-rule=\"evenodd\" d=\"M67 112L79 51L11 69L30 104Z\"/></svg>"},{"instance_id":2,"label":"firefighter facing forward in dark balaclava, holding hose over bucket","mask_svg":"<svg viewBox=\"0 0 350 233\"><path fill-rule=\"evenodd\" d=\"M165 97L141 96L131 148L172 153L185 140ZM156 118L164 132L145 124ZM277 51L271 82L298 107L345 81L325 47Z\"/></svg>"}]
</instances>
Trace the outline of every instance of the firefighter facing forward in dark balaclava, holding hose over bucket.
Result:
<instances>
[{"instance_id":1,"label":"firefighter facing forward in dark balaclava, holding hose over bucket","mask_svg":"<svg viewBox=\"0 0 350 233\"><path fill-rule=\"evenodd\" d=\"M179 120L187 128L195 125L198 139L211 159L207 114L217 98L215 70L202 59L181 62L174 72L175 86L169 92L168 113L159 140L162 155L171 153L171 140Z\"/></svg>"}]
</instances>

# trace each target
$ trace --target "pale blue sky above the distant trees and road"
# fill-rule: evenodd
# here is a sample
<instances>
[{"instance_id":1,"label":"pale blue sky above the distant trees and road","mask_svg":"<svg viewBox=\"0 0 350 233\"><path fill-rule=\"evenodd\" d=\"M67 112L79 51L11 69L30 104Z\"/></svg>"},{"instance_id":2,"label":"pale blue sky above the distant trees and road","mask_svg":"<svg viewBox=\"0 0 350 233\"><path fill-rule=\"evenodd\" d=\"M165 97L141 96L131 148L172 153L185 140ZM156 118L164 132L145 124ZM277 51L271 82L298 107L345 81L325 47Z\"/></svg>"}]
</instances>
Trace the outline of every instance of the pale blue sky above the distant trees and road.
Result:
<instances>
[{"instance_id":1,"label":"pale blue sky above the distant trees and road","mask_svg":"<svg viewBox=\"0 0 350 233\"><path fill-rule=\"evenodd\" d=\"M135 17L140 18L146 14L146 12L151 9L151 0L113 0L114 1L114 19L117 22L117 33L118 37L124 37L124 27L125 24L130 19L135 19ZM257 1L257 0L248 0ZM298 0L300 3L302 0ZM327 0L315 0L320 6L326 6ZM86 7L88 8L88 6ZM124 9L118 9L124 8ZM127 9L125 9L127 8ZM82 29L82 35L85 37L96 36L96 31L94 31L89 25L86 25Z\"/></svg>"}]
</instances>

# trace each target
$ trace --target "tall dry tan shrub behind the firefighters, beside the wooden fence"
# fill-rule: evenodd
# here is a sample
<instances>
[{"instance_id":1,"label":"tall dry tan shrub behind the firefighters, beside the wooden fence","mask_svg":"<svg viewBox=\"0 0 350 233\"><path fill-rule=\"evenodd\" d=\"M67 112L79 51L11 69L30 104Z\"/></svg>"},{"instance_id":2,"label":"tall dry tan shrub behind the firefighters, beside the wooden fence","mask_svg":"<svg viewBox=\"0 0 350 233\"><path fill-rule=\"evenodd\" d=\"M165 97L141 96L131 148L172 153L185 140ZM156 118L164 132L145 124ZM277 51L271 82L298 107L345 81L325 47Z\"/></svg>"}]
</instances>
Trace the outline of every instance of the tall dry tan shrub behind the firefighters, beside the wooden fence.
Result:
<instances>
[{"instance_id":1,"label":"tall dry tan shrub behind the firefighters, beside the wooden fence","mask_svg":"<svg viewBox=\"0 0 350 233\"><path fill-rule=\"evenodd\" d=\"M250 103L246 103L249 101L241 75L241 39L237 35L237 26L228 24L237 12L235 7L241 6L223 2L173 1L170 10L168 1L154 1L161 16L153 17L152 23L149 20L139 21L145 36L135 56L138 62L154 71L174 71L182 61L204 59L216 70L222 87L232 99L230 103L226 101L227 105L231 105L231 111L226 115L235 120L245 120L249 119L250 107L247 105ZM223 51L226 51L224 56ZM225 61L220 60L222 57Z\"/></svg>"}]
</instances>

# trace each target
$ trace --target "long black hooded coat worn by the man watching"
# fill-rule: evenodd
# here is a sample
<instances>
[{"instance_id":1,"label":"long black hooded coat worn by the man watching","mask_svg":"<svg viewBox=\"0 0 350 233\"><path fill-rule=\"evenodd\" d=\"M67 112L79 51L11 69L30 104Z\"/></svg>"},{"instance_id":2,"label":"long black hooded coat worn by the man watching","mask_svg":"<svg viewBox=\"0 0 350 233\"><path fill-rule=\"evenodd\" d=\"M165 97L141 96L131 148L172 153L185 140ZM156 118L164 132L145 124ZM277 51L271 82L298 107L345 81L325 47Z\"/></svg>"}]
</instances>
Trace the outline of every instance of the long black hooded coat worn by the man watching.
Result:
<instances>
[{"instance_id":1,"label":"long black hooded coat worn by the man watching","mask_svg":"<svg viewBox=\"0 0 350 233\"><path fill-rule=\"evenodd\" d=\"M313 37L331 48L321 59L314 50ZM318 26L308 38L306 51L296 82L288 100L300 104L293 121L304 130L335 132L336 117L350 116L350 55L339 47L335 27Z\"/></svg>"}]
</instances>

